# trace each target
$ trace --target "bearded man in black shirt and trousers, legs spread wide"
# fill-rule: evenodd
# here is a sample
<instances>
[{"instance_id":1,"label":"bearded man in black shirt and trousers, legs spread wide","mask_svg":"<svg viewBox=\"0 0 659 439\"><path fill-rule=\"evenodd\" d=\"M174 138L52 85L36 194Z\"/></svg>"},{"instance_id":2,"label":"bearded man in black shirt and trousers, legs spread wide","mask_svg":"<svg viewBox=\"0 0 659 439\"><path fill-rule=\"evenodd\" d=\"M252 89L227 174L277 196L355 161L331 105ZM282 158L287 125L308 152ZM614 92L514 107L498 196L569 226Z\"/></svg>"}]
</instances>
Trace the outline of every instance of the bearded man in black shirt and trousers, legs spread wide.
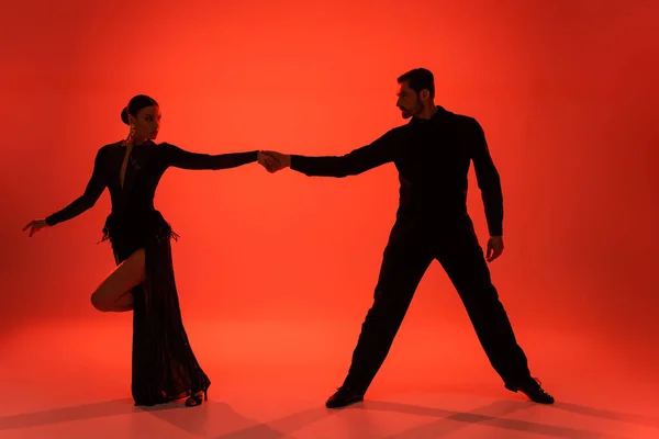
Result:
<instances>
[{"instance_id":1,"label":"bearded man in black shirt and trousers, legs spread wide","mask_svg":"<svg viewBox=\"0 0 659 439\"><path fill-rule=\"evenodd\" d=\"M507 390L532 401L554 397L530 376L487 261L503 251L503 196L485 136L472 117L435 105L433 74L417 68L398 78L398 106L407 124L344 156L308 157L265 151L270 172L290 167L306 176L356 176L393 161L399 170L400 205L384 249L375 301L361 326L348 374L326 406L364 399L387 357L412 296L437 259L455 285L490 363ZM267 162L266 162L267 161ZM467 212L467 180L473 162L490 233L487 255Z\"/></svg>"}]
</instances>

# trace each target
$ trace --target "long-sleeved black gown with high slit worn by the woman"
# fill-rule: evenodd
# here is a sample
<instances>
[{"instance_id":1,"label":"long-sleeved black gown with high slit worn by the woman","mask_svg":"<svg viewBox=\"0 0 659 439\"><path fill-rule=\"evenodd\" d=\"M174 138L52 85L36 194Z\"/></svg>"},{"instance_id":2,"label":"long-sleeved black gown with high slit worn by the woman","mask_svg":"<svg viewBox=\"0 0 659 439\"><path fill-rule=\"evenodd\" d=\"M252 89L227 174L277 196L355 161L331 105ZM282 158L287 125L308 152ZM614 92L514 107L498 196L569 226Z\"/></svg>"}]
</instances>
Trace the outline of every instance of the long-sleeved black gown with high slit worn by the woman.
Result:
<instances>
[{"instance_id":1,"label":"long-sleeved black gown with high slit worn by the woman","mask_svg":"<svg viewBox=\"0 0 659 439\"><path fill-rule=\"evenodd\" d=\"M154 405L205 391L211 381L199 365L181 320L171 261L170 239L178 238L160 212L154 195L168 167L227 169L257 160L258 151L208 155L186 151L175 145L146 142L133 147L124 176L123 142L101 147L85 193L65 209L49 215L54 226L93 206L105 188L112 212L103 227L116 264L135 250L145 249L146 281L136 286L133 312L132 394L135 405Z\"/></svg>"}]
</instances>

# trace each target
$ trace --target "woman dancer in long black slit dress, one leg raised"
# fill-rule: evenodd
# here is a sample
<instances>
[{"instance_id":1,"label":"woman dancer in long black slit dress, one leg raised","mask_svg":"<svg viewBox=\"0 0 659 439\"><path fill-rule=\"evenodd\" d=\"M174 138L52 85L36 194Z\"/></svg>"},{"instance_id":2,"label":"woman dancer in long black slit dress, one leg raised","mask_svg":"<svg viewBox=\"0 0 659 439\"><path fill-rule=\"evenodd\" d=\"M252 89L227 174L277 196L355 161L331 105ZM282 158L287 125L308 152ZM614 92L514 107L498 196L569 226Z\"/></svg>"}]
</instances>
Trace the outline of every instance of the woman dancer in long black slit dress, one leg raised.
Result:
<instances>
[{"instance_id":1,"label":"woman dancer in long black slit dress, one leg raised","mask_svg":"<svg viewBox=\"0 0 659 439\"><path fill-rule=\"evenodd\" d=\"M91 294L103 312L133 309L132 394L135 405L154 405L187 397L187 406L208 399L211 384L190 347L174 275L170 239L178 238L154 207L158 181L169 167L228 169L253 161L270 168L260 151L206 155L156 144L160 124L157 102L144 94L122 111L130 125L126 139L101 147L85 193L44 219L30 222L30 236L74 218L94 205L105 188L112 212L103 228L115 270Z\"/></svg>"}]
</instances>

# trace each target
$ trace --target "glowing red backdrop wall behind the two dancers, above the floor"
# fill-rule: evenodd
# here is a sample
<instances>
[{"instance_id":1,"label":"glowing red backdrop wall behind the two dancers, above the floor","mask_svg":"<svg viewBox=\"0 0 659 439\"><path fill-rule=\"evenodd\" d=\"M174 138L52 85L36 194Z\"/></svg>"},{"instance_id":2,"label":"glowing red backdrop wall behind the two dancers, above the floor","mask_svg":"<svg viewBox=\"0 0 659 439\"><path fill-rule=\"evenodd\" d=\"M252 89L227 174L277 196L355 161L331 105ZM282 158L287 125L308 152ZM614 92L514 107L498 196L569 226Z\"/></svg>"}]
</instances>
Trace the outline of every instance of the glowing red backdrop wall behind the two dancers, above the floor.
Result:
<instances>
[{"instance_id":1,"label":"glowing red backdrop wall behind the two dancers, above the floor","mask_svg":"<svg viewBox=\"0 0 659 439\"><path fill-rule=\"evenodd\" d=\"M31 239L21 228L81 194L97 149L126 135L132 95L158 100L159 140L189 150L340 155L404 123L395 78L423 66L438 104L480 121L502 176L506 249L491 270L523 346L562 334L654 373L657 12L650 1L567 0L3 7L0 341L29 325L108 318L89 302L114 268L96 245L108 192ZM484 244L473 175L470 188ZM181 235L183 317L342 320L355 333L396 204L392 165L343 180L256 164L169 170L156 205ZM436 262L403 326L434 322L469 325Z\"/></svg>"}]
</instances>

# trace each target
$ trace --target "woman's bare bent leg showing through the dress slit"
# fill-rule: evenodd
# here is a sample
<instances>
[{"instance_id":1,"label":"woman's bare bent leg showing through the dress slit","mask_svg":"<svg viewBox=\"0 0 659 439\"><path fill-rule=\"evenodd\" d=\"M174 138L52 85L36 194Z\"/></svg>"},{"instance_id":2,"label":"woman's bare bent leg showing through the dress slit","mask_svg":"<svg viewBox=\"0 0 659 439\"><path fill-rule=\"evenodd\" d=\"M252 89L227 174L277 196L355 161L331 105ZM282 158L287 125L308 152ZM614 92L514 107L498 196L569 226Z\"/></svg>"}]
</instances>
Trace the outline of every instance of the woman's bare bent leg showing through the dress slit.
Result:
<instances>
[{"instance_id":1,"label":"woman's bare bent leg showing through the dress slit","mask_svg":"<svg viewBox=\"0 0 659 439\"><path fill-rule=\"evenodd\" d=\"M145 254L141 248L121 262L91 294L91 304L103 312L133 309L131 290L146 280Z\"/></svg>"}]
</instances>

